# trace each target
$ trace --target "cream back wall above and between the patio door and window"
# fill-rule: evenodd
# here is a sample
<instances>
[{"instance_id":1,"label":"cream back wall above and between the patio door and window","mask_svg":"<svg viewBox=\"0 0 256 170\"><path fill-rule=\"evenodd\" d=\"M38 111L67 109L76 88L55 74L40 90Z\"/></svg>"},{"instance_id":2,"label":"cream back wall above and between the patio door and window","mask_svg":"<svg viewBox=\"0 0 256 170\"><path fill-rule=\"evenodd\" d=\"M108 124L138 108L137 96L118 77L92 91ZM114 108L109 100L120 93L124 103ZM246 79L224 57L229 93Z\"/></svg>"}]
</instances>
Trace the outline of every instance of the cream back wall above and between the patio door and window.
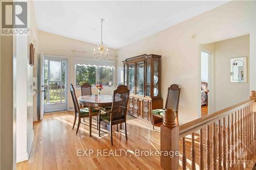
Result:
<instances>
[{"instance_id":1,"label":"cream back wall above and between the patio door and window","mask_svg":"<svg viewBox=\"0 0 256 170\"><path fill-rule=\"evenodd\" d=\"M68 58L68 85L72 83L75 84L75 67L74 67L74 57L79 58L93 58L93 49L97 48L95 44L91 44L88 42L83 42L47 32L39 31L39 46L40 53L44 53L46 55L51 55L51 57L66 57ZM72 52L72 50L77 50L81 52ZM116 60L116 50L109 48L110 57L109 60ZM97 61L96 61L97 62ZM116 80L116 78L115 78ZM116 81L115 81L116 85ZM101 91L101 94L113 94L113 90L115 89L115 85L113 87L104 87ZM81 95L81 89L75 89L76 95ZM96 88L92 88L92 93L97 94ZM68 109L74 108L69 86L68 86Z\"/></svg>"}]
</instances>

